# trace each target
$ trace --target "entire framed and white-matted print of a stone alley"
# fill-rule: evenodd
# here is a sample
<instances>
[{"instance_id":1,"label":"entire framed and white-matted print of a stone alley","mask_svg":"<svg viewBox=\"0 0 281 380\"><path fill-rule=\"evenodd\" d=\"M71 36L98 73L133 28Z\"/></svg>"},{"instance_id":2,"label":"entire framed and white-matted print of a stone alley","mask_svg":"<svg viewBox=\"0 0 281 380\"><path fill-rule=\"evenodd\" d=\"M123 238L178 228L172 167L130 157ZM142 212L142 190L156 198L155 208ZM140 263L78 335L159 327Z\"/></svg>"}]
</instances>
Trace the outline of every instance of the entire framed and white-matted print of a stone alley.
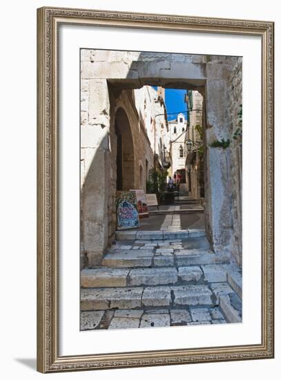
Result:
<instances>
[{"instance_id":1,"label":"entire framed and white-matted print of a stone alley","mask_svg":"<svg viewBox=\"0 0 281 380\"><path fill-rule=\"evenodd\" d=\"M273 357L273 23L39 8L37 368Z\"/></svg>"}]
</instances>

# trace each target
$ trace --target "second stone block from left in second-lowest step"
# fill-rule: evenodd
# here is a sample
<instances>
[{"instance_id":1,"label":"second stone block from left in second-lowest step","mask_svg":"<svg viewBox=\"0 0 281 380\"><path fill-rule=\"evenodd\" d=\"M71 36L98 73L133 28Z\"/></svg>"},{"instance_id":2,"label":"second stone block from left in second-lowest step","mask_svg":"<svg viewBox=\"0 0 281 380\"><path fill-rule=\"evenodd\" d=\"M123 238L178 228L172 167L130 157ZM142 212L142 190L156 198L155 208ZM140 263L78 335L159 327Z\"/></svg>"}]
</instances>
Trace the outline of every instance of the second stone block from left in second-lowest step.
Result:
<instances>
[{"instance_id":1,"label":"second stone block from left in second-lowest step","mask_svg":"<svg viewBox=\"0 0 281 380\"><path fill-rule=\"evenodd\" d=\"M131 269L128 276L128 285L166 285L177 282L177 269L139 268Z\"/></svg>"}]
</instances>

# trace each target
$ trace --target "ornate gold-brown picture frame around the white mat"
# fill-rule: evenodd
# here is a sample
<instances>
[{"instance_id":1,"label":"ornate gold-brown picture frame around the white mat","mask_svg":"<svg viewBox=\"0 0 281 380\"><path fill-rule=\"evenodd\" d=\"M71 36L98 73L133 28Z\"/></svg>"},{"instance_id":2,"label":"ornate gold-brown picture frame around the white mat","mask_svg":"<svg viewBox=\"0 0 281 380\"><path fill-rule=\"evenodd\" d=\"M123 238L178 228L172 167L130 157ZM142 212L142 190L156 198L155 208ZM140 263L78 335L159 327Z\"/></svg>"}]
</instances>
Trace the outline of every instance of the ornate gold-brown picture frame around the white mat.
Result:
<instances>
[{"instance_id":1,"label":"ornate gold-brown picture frame around the white mat","mask_svg":"<svg viewBox=\"0 0 281 380\"><path fill-rule=\"evenodd\" d=\"M262 44L261 343L63 357L59 354L58 39L60 24L182 30L260 37ZM274 357L274 23L132 12L37 10L37 370L61 372Z\"/></svg>"}]
</instances>

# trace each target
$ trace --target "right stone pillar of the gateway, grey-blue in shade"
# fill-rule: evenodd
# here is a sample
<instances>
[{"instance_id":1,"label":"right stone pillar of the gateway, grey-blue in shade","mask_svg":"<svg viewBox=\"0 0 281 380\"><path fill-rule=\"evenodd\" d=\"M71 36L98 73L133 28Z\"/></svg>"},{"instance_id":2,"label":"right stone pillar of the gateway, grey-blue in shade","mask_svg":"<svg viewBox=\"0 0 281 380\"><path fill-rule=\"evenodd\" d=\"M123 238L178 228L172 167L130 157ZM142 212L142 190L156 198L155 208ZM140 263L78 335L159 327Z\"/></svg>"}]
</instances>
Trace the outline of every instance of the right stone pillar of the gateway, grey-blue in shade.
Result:
<instances>
[{"instance_id":1,"label":"right stone pillar of the gateway, grey-blue in shade","mask_svg":"<svg viewBox=\"0 0 281 380\"><path fill-rule=\"evenodd\" d=\"M227 88L227 78L206 81L206 229L216 254L231 254L233 246L230 149L210 146L231 137Z\"/></svg>"}]
</instances>

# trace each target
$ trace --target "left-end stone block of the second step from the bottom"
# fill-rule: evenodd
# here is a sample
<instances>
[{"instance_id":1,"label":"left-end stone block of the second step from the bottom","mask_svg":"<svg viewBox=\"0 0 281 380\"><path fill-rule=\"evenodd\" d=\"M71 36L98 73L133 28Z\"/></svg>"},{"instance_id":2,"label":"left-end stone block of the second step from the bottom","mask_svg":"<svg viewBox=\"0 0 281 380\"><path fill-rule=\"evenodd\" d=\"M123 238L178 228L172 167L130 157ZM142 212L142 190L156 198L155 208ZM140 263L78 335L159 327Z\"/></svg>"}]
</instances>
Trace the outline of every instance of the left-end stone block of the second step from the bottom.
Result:
<instances>
[{"instance_id":1,"label":"left-end stone block of the second step from the bottom","mask_svg":"<svg viewBox=\"0 0 281 380\"><path fill-rule=\"evenodd\" d=\"M81 271L81 287L122 287L130 269L97 268Z\"/></svg>"}]
</instances>

